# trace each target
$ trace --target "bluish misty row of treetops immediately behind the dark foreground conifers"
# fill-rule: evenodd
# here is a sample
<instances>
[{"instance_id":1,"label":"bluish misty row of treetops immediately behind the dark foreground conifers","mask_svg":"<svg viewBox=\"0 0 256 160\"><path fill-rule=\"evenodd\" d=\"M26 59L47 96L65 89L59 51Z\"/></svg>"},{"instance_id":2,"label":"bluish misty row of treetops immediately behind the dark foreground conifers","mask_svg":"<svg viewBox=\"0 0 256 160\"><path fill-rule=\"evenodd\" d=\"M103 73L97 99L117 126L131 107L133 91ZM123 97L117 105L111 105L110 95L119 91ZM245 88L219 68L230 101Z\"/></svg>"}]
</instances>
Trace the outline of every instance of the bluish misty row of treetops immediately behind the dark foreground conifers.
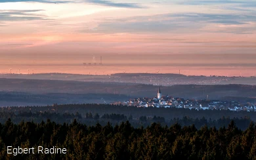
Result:
<instances>
[{"instance_id":1,"label":"bluish misty row of treetops immediately behind the dark foreground conifers","mask_svg":"<svg viewBox=\"0 0 256 160\"><path fill-rule=\"evenodd\" d=\"M148 127L152 123L160 123L162 126L167 125L170 127L171 125L175 123L179 123L182 127L183 126L189 126L189 125L195 125L197 129L200 129L200 127L203 127L207 125L208 127L216 127L219 129L220 127L227 127L230 121L234 121L239 129L245 130L249 123L251 122L251 119L249 117L240 117L240 118L232 118L230 117L221 117L217 120L211 120L206 119L205 117L202 117L201 119L194 119L191 117L182 117L180 118L173 118L171 120L166 120L164 117L146 117L146 116L140 116L139 118L134 118L133 115L129 115L129 117L123 115L123 114L108 114L105 113L104 115L100 116L98 113L85 113L85 117L83 117L80 113L76 112L74 113L51 113L49 111L44 112L35 112L32 113L32 111L29 112L22 112L14 113L13 111L0 111L0 123L5 123L7 119L12 119L13 123L20 123L21 121L33 121L35 123L41 123L41 121L47 121L47 119L51 119L51 121L54 121L55 123L72 123L74 119L77 119L79 123L85 123L86 125L96 125L99 123L100 125L106 125L108 122L112 123L112 125L120 124L123 121L130 121L131 125L133 127Z\"/></svg>"}]
</instances>

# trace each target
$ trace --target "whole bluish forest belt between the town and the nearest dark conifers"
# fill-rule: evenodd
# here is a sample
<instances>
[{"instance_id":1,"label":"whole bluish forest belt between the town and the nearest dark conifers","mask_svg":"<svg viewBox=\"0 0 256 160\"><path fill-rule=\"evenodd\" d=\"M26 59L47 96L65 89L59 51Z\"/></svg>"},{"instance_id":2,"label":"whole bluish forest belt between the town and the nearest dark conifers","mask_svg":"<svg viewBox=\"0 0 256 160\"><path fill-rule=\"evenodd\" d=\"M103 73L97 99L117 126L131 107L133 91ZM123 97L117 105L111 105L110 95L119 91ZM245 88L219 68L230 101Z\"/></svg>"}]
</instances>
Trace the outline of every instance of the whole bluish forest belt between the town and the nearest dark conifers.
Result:
<instances>
[{"instance_id":1,"label":"whole bluish forest belt between the town and the nearest dark conifers","mask_svg":"<svg viewBox=\"0 0 256 160\"><path fill-rule=\"evenodd\" d=\"M256 121L256 112L228 111L228 110L189 110L182 108L137 108L115 106L110 104L69 104L34 107L1 108L0 123L11 118L18 124L21 121L40 123L51 119L55 123L72 123L77 119L86 125L112 125L123 121L130 121L133 127L148 127L152 123L171 126L179 123L181 126L195 125L200 129L204 125L209 127L227 127L234 121L239 129L245 130L251 121Z\"/></svg>"}]
</instances>

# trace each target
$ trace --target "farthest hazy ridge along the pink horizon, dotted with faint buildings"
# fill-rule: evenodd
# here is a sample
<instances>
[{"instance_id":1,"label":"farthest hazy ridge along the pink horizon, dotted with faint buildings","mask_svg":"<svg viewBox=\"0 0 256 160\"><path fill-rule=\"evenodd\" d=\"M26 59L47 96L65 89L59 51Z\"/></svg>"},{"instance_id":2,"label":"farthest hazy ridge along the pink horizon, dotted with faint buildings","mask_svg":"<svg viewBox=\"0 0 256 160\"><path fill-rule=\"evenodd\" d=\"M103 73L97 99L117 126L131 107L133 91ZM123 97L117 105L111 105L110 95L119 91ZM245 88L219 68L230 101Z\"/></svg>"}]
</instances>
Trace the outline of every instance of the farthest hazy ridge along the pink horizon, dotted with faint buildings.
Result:
<instances>
[{"instance_id":1,"label":"farthest hazy ridge along the pink horizon, dotted with faint buildings","mask_svg":"<svg viewBox=\"0 0 256 160\"><path fill-rule=\"evenodd\" d=\"M103 73L103 72L102 72ZM182 75L178 73L113 73L111 75L100 74L70 74L70 73L34 73L34 74L0 74L3 79L41 79L60 81L82 82L115 82L137 83L144 85L256 85L256 77L224 77L204 75Z\"/></svg>"}]
</instances>

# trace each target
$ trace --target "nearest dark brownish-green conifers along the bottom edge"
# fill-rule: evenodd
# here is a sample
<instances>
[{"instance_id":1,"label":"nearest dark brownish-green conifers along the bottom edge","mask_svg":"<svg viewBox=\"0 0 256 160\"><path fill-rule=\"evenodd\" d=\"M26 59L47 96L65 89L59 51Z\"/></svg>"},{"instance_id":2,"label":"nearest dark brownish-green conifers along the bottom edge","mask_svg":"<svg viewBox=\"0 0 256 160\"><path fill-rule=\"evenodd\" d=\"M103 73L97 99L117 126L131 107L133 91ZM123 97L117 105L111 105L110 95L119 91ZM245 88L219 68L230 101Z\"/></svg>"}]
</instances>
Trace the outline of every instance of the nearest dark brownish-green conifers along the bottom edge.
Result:
<instances>
[{"instance_id":1,"label":"nearest dark brownish-green conifers along the bottom edge","mask_svg":"<svg viewBox=\"0 0 256 160\"><path fill-rule=\"evenodd\" d=\"M242 131L231 121L228 127L135 128L129 121L112 126L88 127L52 121L0 124L0 159L256 159L256 127ZM7 154L12 148L66 148L66 154Z\"/></svg>"}]
</instances>

